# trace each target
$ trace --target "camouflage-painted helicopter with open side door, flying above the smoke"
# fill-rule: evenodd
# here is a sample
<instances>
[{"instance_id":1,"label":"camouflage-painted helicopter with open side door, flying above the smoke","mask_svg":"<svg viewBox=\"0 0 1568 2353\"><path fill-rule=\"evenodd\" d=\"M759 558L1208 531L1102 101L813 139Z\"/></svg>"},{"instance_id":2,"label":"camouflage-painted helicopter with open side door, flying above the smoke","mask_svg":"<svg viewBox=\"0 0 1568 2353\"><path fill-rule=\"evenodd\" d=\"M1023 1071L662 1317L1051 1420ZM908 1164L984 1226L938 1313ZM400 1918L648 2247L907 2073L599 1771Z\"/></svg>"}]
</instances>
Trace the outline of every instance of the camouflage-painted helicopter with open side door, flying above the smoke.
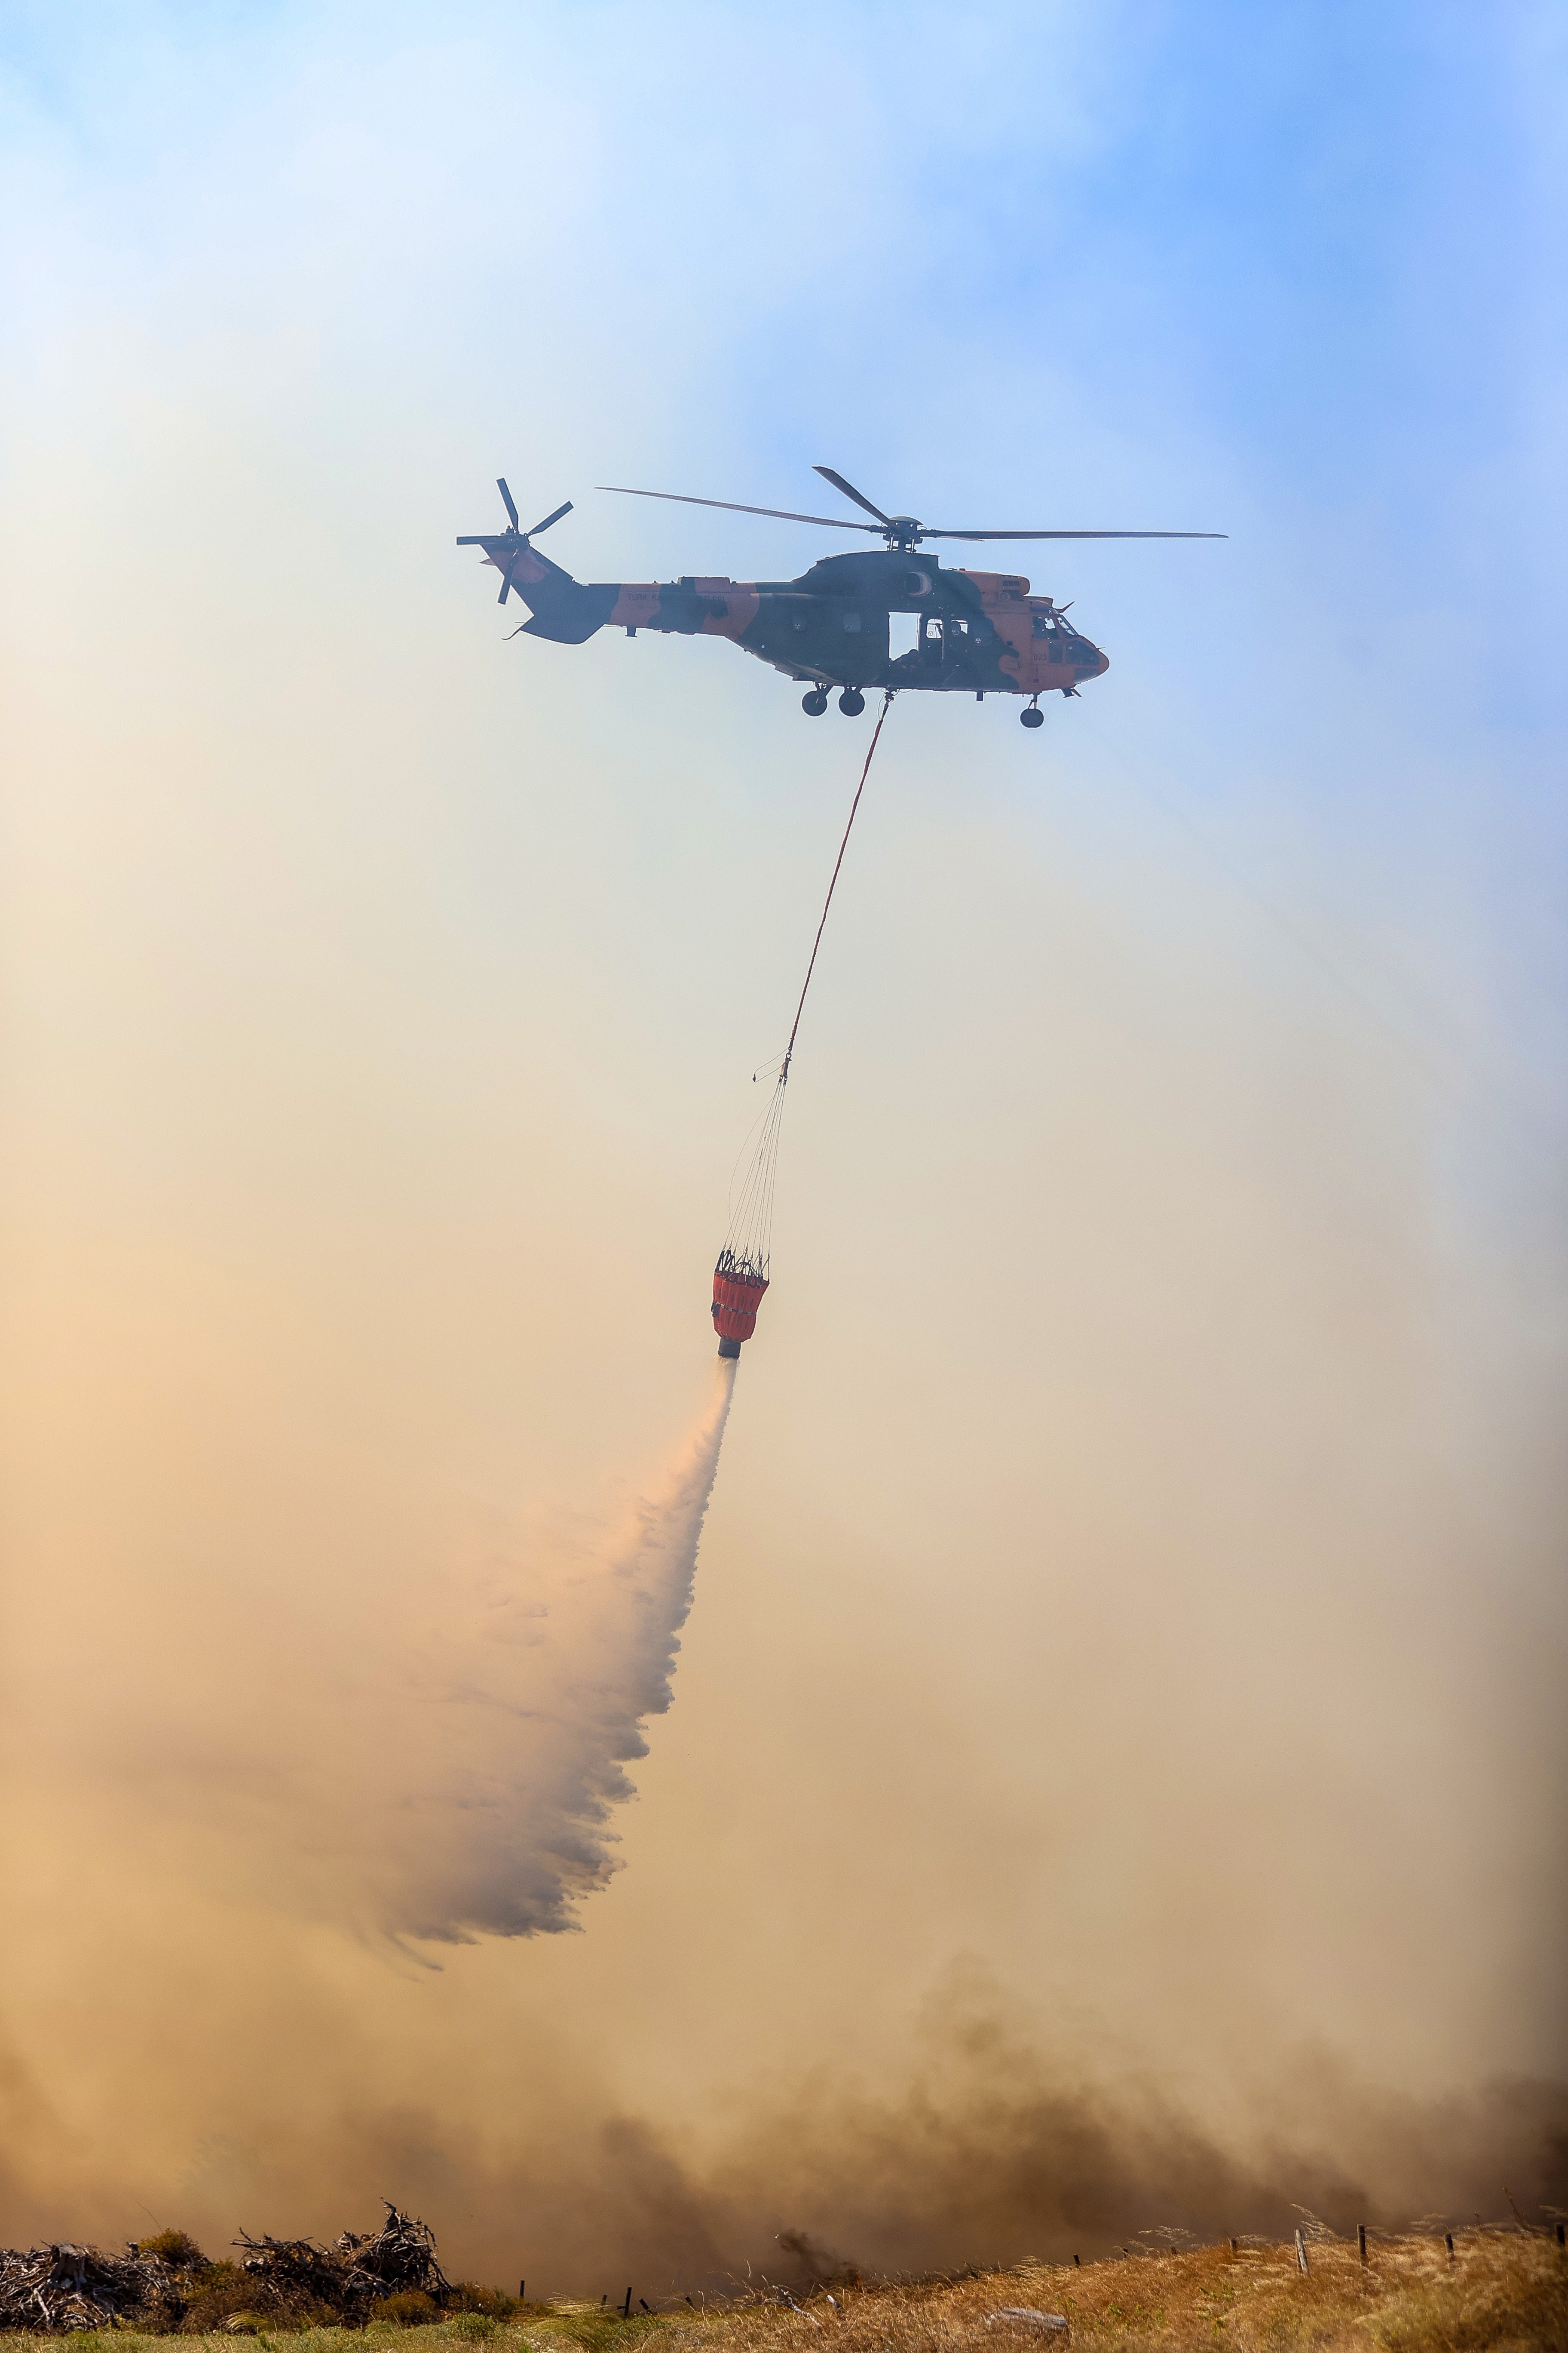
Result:
<instances>
[{"instance_id":1,"label":"camouflage-painted helicopter with open side door, flying above the smoke","mask_svg":"<svg viewBox=\"0 0 1568 2353\"><path fill-rule=\"evenodd\" d=\"M1072 621L1067 605L1032 595L1020 572L947 569L924 553L926 539L1227 539L1227 532L957 532L917 515L884 515L832 466L816 466L872 522L853 515L797 515L783 506L741 506L733 499L696 499L679 489L630 489L599 482L623 499L670 499L679 506L722 506L731 515L771 515L778 522L813 522L830 532L867 532L882 548L823 555L792 581L731 581L684 574L677 581L574 581L541 555L534 541L562 515L571 499L517 527L517 501L496 480L510 527L458 539L461 548L484 548L501 574L498 602L512 591L529 607L512 635L583 645L599 628L658 628L682 638L729 638L743 652L804 685L802 711L820 718L832 687L844 718L865 711L865 689L919 694L1018 694L1025 727L1041 727L1041 694L1072 696L1086 678L1110 671L1100 652ZM891 652L891 616L914 616L914 645ZM907 635L907 631L905 631Z\"/></svg>"}]
</instances>

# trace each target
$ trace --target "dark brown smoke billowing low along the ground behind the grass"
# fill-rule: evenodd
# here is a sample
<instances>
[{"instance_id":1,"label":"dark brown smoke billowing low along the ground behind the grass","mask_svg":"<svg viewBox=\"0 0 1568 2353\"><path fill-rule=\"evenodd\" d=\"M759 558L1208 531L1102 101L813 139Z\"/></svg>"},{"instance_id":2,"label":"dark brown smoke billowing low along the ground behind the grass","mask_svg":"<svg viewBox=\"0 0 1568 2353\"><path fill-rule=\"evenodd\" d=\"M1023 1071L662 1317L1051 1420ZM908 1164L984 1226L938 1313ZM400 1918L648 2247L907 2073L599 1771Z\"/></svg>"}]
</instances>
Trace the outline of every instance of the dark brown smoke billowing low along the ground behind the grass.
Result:
<instances>
[{"instance_id":1,"label":"dark brown smoke billowing low along the ground behind the grass","mask_svg":"<svg viewBox=\"0 0 1568 2353\"><path fill-rule=\"evenodd\" d=\"M1568 2085L1418 2101L1307 2052L1220 2129L1152 2080L1058 2073L966 2002L950 2005L907 2087L823 2071L757 2101L708 2151L684 2151L646 2118L574 2127L541 2113L484 2155L451 2134L437 2101L339 2115L308 2148L273 2132L207 2155L179 2217L197 2235L219 2238L240 2193L252 2212L273 2195L292 2231L336 2228L355 2205L374 2212L376 2184L430 2217L447 2268L463 2275L527 2268L548 2294L611 2282L621 2294L635 2280L654 2301L748 2273L820 2282L1091 2259L1161 2228L1284 2238L1300 2209L1338 2233L1418 2217L1509 2221L1507 2191L1540 2224L1568 2205Z\"/></svg>"}]
</instances>

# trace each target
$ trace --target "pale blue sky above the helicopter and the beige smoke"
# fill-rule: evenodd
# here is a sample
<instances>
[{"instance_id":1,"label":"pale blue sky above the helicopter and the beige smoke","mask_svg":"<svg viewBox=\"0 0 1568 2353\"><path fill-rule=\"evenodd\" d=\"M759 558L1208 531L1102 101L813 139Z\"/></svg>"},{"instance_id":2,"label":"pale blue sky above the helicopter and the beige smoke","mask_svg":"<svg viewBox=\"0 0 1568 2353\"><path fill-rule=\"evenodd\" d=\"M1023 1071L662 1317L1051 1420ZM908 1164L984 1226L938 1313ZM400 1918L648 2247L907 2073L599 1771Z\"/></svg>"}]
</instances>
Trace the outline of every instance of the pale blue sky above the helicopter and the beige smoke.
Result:
<instances>
[{"instance_id":1,"label":"pale blue sky above the helicopter and the beige smoke","mask_svg":"<svg viewBox=\"0 0 1568 2353\"><path fill-rule=\"evenodd\" d=\"M1159 694L1201 631L1208 765L1291 706L1302 791L1363 798L1392 722L1519 762L1556 871L1561 80L1528 7L24 9L12 353L134 320L167 395L233 327L280 414L395 466L489 435L548 501L795 504L825 456L931 513L1229 527L1074 560ZM813 546L581 508L597 576Z\"/></svg>"}]
</instances>

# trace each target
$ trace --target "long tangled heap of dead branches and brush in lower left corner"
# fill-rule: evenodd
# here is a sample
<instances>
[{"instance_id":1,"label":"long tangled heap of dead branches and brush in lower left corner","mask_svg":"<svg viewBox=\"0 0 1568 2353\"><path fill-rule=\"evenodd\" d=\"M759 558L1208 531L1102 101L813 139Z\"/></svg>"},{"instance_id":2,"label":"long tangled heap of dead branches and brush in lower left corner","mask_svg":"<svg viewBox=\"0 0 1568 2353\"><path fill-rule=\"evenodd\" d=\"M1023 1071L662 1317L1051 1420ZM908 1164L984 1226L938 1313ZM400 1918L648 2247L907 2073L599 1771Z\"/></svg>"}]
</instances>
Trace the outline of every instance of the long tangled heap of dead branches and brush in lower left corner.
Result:
<instances>
[{"instance_id":1,"label":"long tangled heap of dead branches and brush in lower left corner","mask_svg":"<svg viewBox=\"0 0 1568 2353\"><path fill-rule=\"evenodd\" d=\"M150 2334L193 2332L254 2315L268 2322L364 2327L390 2297L418 2297L435 2318L454 2292L435 2259L435 2233L388 2202L378 2231L343 2231L331 2247L313 2238L252 2238L237 2264L209 2264L183 2231L103 2247L0 2247L0 2329L59 2334L134 2322ZM425 2301L428 2299L428 2301Z\"/></svg>"}]
</instances>

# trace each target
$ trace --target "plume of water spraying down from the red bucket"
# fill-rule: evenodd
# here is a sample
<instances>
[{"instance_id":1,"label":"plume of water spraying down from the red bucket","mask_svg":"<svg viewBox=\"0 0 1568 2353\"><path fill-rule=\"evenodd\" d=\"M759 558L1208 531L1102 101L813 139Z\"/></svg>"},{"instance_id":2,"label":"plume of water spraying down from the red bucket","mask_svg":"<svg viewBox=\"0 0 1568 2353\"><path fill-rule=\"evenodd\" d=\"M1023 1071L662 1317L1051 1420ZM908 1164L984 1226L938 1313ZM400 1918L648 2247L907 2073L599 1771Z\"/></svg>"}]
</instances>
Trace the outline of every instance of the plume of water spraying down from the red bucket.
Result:
<instances>
[{"instance_id":1,"label":"plume of water spraying down from the red bucket","mask_svg":"<svg viewBox=\"0 0 1568 2353\"><path fill-rule=\"evenodd\" d=\"M223 1774L181 1777L181 1814L212 1831L214 1857L240 1828L273 1901L425 1965L440 1946L576 1927L618 1868L646 1720L670 1706L731 1388L733 1365L717 1365L684 1435L604 1525L484 1513L444 1565L390 1579L353 1687L296 1678L287 1777L263 1774L275 1720L249 1734L237 1706L228 1779L263 1795L237 1812Z\"/></svg>"}]
</instances>

